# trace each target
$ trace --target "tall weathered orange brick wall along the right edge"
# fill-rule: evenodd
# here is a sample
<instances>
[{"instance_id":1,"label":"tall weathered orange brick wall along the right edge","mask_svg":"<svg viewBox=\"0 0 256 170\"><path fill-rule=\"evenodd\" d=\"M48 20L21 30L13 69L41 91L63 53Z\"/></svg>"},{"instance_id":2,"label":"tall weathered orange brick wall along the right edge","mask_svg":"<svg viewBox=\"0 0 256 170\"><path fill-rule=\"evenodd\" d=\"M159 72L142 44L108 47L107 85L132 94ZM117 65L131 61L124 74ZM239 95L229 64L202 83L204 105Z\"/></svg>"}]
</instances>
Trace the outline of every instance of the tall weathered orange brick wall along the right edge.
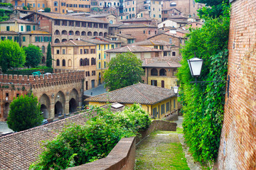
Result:
<instances>
[{"instance_id":1,"label":"tall weathered orange brick wall along the right edge","mask_svg":"<svg viewBox=\"0 0 256 170\"><path fill-rule=\"evenodd\" d=\"M256 169L256 1L232 2L228 75L230 96L215 169Z\"/></svg>"}]
</instances>

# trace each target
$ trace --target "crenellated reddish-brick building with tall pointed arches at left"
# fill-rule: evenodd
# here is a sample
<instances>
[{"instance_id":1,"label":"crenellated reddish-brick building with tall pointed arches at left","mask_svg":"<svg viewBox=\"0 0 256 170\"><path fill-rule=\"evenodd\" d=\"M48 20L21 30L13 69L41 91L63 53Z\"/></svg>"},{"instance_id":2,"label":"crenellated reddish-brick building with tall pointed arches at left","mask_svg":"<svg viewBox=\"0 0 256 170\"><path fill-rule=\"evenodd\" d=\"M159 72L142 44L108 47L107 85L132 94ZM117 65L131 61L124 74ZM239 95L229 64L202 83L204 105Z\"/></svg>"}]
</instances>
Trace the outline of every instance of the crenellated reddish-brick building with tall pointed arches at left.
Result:
<instances>
[{"instance_id":1,"label":"crenellated reddish-brick building with tall pointed arches at left","mask_svg":"<svg viewBox=\"0 0 256 170\"><path fill-rule=\"evenodd\" d=\"M55 70L55 73L38 76L0 74L0 120L6 121L14 97L33 93L41 103L44 118L68 114L82 106L85 72Z\"/></svg>"}]
</instances>

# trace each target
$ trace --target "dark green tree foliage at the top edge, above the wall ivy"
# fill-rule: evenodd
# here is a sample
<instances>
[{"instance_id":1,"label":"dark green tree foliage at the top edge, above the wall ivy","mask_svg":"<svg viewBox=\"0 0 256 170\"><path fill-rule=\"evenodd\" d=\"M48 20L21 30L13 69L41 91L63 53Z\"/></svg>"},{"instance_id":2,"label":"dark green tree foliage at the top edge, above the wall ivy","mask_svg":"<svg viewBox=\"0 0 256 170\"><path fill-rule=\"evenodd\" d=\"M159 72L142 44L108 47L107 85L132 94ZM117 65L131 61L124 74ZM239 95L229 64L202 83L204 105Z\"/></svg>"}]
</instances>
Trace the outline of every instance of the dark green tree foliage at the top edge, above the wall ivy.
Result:
<instances>
[{"instance_id":1,"label":"dark green tree foliage at the top edge, above the wall ivy","mask_svg":"<svg viewBox=\"0 0 256 170\"><path fill-rule=\"evenodd\" d=\"M206 4L203 8L198 9L198 16L203 19L224 16L226 8L230 7L228 0L196 0L196 2Z\"/></svg>"}]
</instances>

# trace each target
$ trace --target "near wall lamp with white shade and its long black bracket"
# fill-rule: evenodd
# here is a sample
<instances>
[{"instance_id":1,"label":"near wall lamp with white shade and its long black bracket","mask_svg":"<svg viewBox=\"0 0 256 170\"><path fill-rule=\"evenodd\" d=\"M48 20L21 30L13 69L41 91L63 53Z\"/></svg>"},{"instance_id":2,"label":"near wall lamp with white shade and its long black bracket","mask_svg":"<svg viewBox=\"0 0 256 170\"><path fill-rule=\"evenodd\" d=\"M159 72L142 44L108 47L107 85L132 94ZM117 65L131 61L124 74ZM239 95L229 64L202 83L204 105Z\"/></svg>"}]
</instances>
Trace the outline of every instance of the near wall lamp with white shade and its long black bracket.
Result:
<instances>
[{"instance_id":1,"label":"near wall lamp with white shade and its long black bracket","mask_svg":"<svg viewBox=\"0 0 256 170\"><path fill-rule=\"evenodd\" d=\"M195 77L195 79L197 77L200 77L201 74L201 69L203 66L203 60L199 59L197 57L193 57L191 60L188 60L188 66L189 69L191 71L191 76ZM190 83L208 83L208 82L221 82L221 81L225 81L228 82L227 85L227 93L228 93L228 97L229 97L229 84L230 84L230 77L228 75L228 80L215 80L215 81L191 81Z\"/></svg>"}]
</instances>

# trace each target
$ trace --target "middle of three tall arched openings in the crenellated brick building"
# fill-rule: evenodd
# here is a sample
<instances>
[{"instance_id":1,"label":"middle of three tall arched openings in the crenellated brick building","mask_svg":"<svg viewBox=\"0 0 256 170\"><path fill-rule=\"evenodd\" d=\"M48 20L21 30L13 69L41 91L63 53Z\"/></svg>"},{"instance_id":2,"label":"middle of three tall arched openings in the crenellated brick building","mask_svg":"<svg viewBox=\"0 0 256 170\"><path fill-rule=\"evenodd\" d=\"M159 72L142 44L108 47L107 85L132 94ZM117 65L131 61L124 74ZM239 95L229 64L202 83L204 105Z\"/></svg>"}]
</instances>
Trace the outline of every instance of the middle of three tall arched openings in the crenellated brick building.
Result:
<instances>
[{"instance_id":1,"label":"middle of three tall arched openings in the crenellated brick building","mask_svg":"<svg viewBox=\"0 0 256 170\"><path fill-rule=\"evenodd\" d=\"M58 93L55 96L54 101L54 115L55 117L58 117L59 114L64 114L64 108L65 108L65 95L62 91L58 91Z\"/></svg>"}]
</instances>

